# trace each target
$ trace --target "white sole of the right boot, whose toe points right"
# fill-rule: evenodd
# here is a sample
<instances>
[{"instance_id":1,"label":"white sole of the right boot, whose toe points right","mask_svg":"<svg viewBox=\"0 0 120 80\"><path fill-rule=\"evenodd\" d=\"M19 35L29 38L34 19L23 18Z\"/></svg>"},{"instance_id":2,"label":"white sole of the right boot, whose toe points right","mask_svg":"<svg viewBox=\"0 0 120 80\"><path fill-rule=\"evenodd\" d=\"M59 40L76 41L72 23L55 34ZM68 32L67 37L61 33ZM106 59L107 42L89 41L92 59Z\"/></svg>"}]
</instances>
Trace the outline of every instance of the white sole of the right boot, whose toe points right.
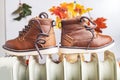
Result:
<instances>
[{"instance_id":1,"label":"white sole of the right boot, whose toe points right","mask_svg":"<svg viewBox=\"0 0 120 80\"><path fill-rule=\"evenodd\" d=\"M112 46L114 46L114 42L107 46L99 47L99 48L81 48L81 47L64 47L60 46L59 52L63 54L74 54L74 53L94 53L94 52L102 52L105 50L110 49Z\"/></svg>"}]
</instances>

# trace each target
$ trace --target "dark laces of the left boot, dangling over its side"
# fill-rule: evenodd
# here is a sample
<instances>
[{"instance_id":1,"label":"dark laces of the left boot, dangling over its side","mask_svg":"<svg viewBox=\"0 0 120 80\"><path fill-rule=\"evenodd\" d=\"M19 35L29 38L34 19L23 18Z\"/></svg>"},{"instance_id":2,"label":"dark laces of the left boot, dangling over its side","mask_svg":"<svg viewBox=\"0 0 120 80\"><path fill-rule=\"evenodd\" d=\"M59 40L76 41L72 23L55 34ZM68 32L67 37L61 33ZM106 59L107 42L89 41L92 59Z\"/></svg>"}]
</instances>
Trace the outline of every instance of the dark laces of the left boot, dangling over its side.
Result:
<instances>
[{"instance_id":1,"label":"dark laces of the left boot, dangling over its side","mask_svg":"<svg viewBox=\"0 0 120 80\"><path fill-rule=\"evenodd\" d=\"M45 13L45 12L42 12L42 13L40 13L39 18L48 18L48 14ZM29 24L27 26L25 26L25 28L22 31L19 31L19 36L23 37L29 31L29 29L31 28L31 24L34 23L34 22L37 22L37 24L39 25L39 26L37 26L37 28L40 31L40 33L38 34L38 36L36 38L36 41L35 41L34 45L35 45L35 48L36 48L37 52L39 53L40 58L42 59L43 57L42 57L42 55L41 55L41 53L39 51L40 50L39 46L46 43L46 41L44 39L42 39L42 37L48 37L49 35L47 33L43 33L43 31L42 31L42 29L40 27L40 25L41 25L40 22L37 19L33 18L29 22ZM52 23L53 22L54 21L52 21ZM52 26L53 26L53 24L52 24Z\"/></svg>"}]
</instances>

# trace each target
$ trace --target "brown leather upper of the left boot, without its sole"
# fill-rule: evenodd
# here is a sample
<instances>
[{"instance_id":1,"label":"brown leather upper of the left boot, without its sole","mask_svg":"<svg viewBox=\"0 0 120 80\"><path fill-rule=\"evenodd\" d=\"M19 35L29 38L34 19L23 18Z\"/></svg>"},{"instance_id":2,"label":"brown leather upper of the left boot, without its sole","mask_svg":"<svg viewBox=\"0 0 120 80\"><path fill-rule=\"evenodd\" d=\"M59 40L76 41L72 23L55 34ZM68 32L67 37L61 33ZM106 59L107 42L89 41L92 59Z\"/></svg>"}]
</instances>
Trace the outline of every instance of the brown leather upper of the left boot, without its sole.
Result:
<instances>
[{"instance_id":1,"label":"brown leather upper of the left boot, without its sole","mask_svg":"<svg viewBox=\"0 0 120 80\"><path fill-rule=\"evenodd\" d=\"M17 38L6 41L4 48L12 50L35 49L35 42L38 38L45 41L44 44L38 43L39 48L56 46L55 33L51 19L36 17L31 19L26 27L27 28L20 32ZM40 36L40 34L47 34L48 36Z\"/></svg>"}]
</instances>

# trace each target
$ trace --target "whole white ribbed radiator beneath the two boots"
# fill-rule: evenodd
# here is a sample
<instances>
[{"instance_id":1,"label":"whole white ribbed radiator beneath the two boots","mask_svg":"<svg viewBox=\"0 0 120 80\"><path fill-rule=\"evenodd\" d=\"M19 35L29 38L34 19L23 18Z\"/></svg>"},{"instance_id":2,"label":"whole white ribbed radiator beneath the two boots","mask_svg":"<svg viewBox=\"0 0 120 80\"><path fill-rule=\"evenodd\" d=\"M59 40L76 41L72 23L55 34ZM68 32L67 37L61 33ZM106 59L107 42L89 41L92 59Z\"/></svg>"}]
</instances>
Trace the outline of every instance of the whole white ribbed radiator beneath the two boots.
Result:
<instances>
[{"instance_id":1,"label":"whole white ribbed radiator beneath the two boots","mask_svg":"<svg viewBox=\"0 0 120 80\"><path fill-rule=\"evenodd\" d=\"M120 68L113 53L104 52L104 61L96 53L90 61L54 63L49 57L40 64L36 56L30 56L29 65L21 57L0 58L0 80L120 80Z\"/></svg>"}]
</instances>

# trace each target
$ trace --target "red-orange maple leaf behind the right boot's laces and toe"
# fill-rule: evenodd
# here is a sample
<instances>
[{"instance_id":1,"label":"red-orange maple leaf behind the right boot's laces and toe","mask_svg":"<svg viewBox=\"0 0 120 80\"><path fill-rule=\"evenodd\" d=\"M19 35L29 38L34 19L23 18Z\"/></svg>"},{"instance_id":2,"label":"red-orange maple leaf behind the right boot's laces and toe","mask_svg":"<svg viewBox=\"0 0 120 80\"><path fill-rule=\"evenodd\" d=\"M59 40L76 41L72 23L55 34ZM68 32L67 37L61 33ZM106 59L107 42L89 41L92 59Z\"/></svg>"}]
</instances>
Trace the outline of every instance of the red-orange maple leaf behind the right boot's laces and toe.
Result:
<instances>
[{"instance_id":1,"label":"red-orange maple leaf behind the right boot's laces and toe","mask_svg":"<svg viewBox=\"0 0 120 80\"><path fill-rule=\"evenodd\" d=\"M97 24L97 27L95 28L95 30L97 32L102 32L101 29L104 29L104 28L107 28L106 26L106 21L107 19L103 18L103 17L100 17L100 18L97 18L96 20L94 20L94 22Z\"/></svg>"}]
</instances>

